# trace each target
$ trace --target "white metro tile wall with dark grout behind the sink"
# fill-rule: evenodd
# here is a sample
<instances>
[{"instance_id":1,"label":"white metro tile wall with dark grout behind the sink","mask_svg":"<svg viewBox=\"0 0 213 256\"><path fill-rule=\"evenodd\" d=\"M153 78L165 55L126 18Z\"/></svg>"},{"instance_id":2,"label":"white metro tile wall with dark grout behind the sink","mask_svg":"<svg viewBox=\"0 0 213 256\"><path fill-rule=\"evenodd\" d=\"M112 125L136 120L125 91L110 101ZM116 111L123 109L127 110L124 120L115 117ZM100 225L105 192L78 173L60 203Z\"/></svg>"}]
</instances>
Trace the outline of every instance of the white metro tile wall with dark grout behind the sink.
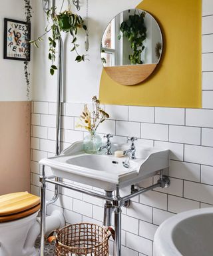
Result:
<instances>
[{"instance_id":1,"label":"white metro tile wall with dark grout behind the sink","mask_svg":"<svg viewBox=\"0 0 213 256\"><path fill-rule=\"evenodd\" d=\"M203 109L168 107L103 106L110 120L99 133L112 133L115 141L138 137L136 143L170 149L168 175L171 187L148 191L122 209L122 256L154 256L153 237L158 225L182 211L213 206L213 1L203 0L202 89ZM63 145L82 140L87 133L75 128L84 103L63 104ZM53 102L32 103L31 192L39 194L41 158L54 155L55 113ZM51 171L47 168L47 174ZM153 179L153 182L156 179ZM143 183L148 186L152 179ZM79 184L77 184L79 185ZM91 187L90 187L91 189ZM95 189L95 188L94 188ZM97 190L97 189L96 189ZM54 186L48 185L48 197ZM122 191L123 192L123 191ZM103 203L82 193L62 189L60 200L48 207L63 211L67 223L103 224ZM124 189L128 193L128 189ZM112 242L110 241L110 245ZM112 246L110 252L112 256Z\"/></svg>"}]
</instances>

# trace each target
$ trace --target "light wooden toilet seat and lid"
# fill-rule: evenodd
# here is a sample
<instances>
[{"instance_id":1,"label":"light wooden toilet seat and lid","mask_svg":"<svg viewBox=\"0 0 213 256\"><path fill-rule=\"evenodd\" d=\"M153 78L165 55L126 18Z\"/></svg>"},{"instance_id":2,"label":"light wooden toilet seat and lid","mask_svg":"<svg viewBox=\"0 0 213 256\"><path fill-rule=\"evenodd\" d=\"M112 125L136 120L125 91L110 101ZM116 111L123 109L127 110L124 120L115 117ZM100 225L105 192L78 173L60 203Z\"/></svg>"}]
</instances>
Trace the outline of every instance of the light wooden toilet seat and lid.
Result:
<instances>
[{"instance_id":1,"label":"light wooden toilet seat and lid","mask_svg":"<svg viewBox=\"0 0 213 256\"><path fill-rule=\"evenodd\" d=\"M40 197L28 192L0 196L0 223L27 217L41 207Z\"/></svg>"}]
</instances>

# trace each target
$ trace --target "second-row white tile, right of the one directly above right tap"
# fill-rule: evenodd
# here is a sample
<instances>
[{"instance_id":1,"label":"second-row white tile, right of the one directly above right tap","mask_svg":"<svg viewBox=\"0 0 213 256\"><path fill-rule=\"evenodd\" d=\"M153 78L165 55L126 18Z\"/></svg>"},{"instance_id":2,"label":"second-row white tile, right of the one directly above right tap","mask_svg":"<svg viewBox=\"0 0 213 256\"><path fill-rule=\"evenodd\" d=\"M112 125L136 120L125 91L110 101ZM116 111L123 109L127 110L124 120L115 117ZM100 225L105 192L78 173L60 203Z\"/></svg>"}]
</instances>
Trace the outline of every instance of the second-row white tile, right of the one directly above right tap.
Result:
<instances>
[{"instance_id":1,"label":"second-row white tile, right of the one directly above right tap","mask_svg":"<svg viewBox=\"0 0 213 256\"><path fill-rule=\"evenodd\" d=\"M142 139L168 141L168 125L141 123L140 137Z\"/></svg>"}]
</instances>

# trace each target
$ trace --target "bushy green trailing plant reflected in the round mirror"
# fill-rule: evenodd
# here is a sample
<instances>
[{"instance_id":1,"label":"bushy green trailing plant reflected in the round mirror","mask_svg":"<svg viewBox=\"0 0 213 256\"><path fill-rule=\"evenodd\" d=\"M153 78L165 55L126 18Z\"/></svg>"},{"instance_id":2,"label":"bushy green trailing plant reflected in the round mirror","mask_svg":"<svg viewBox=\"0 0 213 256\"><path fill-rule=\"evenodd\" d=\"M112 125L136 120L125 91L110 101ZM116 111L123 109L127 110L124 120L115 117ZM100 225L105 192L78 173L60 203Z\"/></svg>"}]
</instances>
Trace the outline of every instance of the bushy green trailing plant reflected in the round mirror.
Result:
<instances>
[{"instance_id":1,"label":"bushy green trailing plant reflected in the round mirror","mask_svg":"<svg viewBox=\"0 0 213 256\"><path fill-rule=\"evenodd\" d=\"M130 11L129 11L130 12ZM143 41L146 39L146 26L144 25L144 17L146 13L142 11L140 14L129 15L127 21L123 21L120 25L120 31L123 37L127 37L133 53L128 55L131 65L142 64L141 53L144 50ZM118 40L122 37L118 35Z\"/></svg>"}]
</instances>

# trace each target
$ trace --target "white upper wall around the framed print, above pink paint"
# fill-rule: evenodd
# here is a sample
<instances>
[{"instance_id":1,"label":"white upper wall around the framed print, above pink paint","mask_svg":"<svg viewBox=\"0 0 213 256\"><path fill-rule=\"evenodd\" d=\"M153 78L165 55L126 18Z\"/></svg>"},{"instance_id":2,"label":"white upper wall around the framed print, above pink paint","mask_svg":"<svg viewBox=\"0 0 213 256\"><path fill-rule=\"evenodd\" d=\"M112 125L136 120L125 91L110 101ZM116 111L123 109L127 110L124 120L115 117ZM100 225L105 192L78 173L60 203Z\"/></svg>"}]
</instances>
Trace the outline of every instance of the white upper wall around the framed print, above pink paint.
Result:
<instances>
[{"instance_id":1,"label":"white upper wall around the framed print, above pink paint","mask_svg":"<svg viewBox=\"0 0 213 256\"><path fill-rule=\"evenodd\" d=\"M25 21L25 3L23 0L6 0L0 4L0 101L26 101L27 85L25 83L23 61L3 59L4 18Z\"/></svg>"}]
</instances>

